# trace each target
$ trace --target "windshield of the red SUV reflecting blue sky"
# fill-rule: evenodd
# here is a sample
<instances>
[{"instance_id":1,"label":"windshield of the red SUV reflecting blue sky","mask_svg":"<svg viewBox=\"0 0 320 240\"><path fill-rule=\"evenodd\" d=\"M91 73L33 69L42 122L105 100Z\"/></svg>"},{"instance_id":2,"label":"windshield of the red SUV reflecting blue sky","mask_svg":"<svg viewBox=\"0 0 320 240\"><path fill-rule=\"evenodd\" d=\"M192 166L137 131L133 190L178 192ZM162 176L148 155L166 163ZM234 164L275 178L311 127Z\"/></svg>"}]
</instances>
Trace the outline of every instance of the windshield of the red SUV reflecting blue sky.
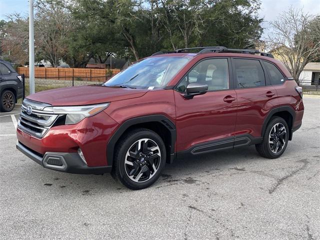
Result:
<instances>
[{"instance_id":1,"label":"windshield of the red SUV reflecting blue sky","mask_svg":"<svg viewBox=\"0 0 320 240\"><path fill-rule=\"evenodd\" d=\"M188 62L189 57L149 57L128 66L104 86L162 88Z\"/></svg>"}]
</instances>

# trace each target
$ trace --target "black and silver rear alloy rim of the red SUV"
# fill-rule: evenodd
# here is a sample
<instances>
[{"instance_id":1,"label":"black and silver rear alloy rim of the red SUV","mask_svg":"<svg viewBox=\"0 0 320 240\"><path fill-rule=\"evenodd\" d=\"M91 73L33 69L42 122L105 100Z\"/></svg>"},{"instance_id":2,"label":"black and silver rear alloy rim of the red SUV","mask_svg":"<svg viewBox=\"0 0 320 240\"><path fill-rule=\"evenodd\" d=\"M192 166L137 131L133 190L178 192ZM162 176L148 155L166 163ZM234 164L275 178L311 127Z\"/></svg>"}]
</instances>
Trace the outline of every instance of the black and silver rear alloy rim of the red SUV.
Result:
<instances>
[{"instance_id":1,"label":"black and silver rear alloy rim of the red SUV","mask_svg":"<svg viewBox=\"0 0 320 240\"><path fill-rule=\"evenodd\" d=\"M282 151L286 142L285 126L278 122L274 124L269 133L269 147L270 150L277 154Z\"/></svg>"}]
</instances>

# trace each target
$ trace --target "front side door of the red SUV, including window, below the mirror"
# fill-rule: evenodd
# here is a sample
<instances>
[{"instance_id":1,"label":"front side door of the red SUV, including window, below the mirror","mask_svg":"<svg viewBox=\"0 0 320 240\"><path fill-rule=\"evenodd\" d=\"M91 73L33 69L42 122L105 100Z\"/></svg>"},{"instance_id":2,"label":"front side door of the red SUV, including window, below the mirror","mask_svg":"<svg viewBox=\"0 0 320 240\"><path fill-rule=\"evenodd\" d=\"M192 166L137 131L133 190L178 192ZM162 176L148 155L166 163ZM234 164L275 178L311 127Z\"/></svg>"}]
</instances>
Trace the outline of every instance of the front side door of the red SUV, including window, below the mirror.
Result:
<instances>
[{"instance_id":1,"label":"front side door of the red SUV, including window, below the mirror","mask_svg":"<svg viewBox=\"0 0 320 240\"><path fill-rule=\"evenodd\" d=\"M204 59L175 87L177 151L192 148L196 154L232 147L237 103L229 72L228 58ZM191 82L207 84L208 91L191 99L183 97Z\"/></svg>"}]
</instances>

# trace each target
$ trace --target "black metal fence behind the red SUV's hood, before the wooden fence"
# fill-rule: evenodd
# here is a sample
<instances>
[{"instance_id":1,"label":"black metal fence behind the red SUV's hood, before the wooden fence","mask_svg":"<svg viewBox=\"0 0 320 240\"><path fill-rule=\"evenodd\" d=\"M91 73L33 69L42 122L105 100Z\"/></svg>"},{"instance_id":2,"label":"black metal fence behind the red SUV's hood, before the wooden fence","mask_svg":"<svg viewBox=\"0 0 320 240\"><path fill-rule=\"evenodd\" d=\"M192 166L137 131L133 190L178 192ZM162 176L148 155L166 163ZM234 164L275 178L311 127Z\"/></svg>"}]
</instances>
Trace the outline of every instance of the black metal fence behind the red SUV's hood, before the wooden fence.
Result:
<instances>
[{"instance_id":1,"label":"black metal fence behind the red SUV's hood, before the wooden fence","mask_svg":"<svg viewBox=\"0 0 320 240\"><path fill-rule=\"evenodd\" d=\"M23 77L23 98L24 96L29 95L29 77ZM93 79L92 79L93 78ZM105 79L109 79L109 76L101 76L101 77L77 77L73 76L69 79L65 79L64 77L35 77L34 78L34 88L35 92L61 88L61 87L69 87L69 86L81 86L81 85L91 85L91 84L102 84L105 82ZM92 80L91 80L92 79ZM22 99L18 99L18 103L21 103Z\"/></svg>"}]
</instances>

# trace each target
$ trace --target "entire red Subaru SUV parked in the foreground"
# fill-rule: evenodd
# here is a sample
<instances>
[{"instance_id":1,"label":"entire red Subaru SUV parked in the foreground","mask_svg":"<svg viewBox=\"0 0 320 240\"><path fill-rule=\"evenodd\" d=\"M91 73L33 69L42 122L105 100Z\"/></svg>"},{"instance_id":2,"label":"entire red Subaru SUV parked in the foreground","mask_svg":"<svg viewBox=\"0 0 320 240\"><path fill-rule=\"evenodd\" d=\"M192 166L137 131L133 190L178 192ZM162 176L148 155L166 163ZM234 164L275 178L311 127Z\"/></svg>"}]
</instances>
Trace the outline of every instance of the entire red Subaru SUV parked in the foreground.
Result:
<instances>
[{"instance_id":1,"label":"entire red Subaru SUV parked in the foreground","mask_svg":"<svg viewBox=\"0 0 320 240\"><path fill-rule=\"evenodd\" d=\"M140 189L176 157L251 144L279 157L303 109L301 87L271 54L186 48L156 52L101 85L27 96L16 147L45 168L111 172Z\"/></svg>"}]
</instances>

